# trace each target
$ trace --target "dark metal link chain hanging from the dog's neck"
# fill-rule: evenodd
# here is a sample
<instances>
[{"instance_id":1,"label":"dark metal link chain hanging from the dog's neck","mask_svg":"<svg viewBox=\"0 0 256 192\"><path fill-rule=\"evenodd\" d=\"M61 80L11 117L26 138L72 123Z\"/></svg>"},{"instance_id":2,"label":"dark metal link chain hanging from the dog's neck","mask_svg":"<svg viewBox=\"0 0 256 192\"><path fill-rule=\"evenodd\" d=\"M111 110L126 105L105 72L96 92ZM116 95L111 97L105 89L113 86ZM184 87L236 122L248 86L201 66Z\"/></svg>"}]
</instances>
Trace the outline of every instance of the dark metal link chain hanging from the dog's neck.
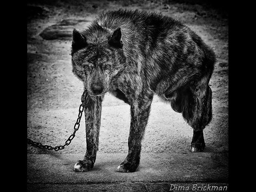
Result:
<instances>
[{"instance_id":1,"label":"dark metal link chain hanging from the dog's neck","mask_svg":"<svg viewBox=\"0 0 256 192\"><path fill-rule=\"evenodd\" d=\"M81 96L82 104L80 104L80 106L79 106L78 118L76 120L76 123L74 124L74 132L69 136L69 138L66 140L64 145L52 147L50 145L43 145L40 142L34 142L30 138L27 138L27 144L34 145L38 148L43 148L43 149L48 149L48 150L55 150L55 151L62 150L62 149L65 148L65 146L68 146L71 143L71 141L74 139L74 137L76 136L76 131L80 127L80 120L82 118L82 114L83 114L83 111L84 111L84 100L86 99L86 97L87 97L87 92L86 92L86 90L84 90L84 92Z\"/></svg>"}]
</instances>

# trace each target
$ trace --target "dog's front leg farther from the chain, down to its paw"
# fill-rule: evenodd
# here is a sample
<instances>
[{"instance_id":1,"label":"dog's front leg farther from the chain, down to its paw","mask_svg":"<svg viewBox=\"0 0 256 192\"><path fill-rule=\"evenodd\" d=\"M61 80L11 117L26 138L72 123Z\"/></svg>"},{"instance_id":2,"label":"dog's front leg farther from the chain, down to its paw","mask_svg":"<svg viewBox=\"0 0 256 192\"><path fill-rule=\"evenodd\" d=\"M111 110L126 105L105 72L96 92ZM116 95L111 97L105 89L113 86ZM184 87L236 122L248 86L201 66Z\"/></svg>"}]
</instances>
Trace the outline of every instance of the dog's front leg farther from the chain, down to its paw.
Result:
<instances>
[{"instance_id":1,"label":"dog's front leg farther from the chain, down to its paw","mask_svg":"<svg viewBox=\"0 0 256 192\"><path fill-rule=\"evenodd\" d=\"M140 163L141 141L148 123L152 95L140 95L140 99L130 102L131 123L128 138L128 155L118 166L118 172L135 172Z\"/></svg>"}]
</instances>

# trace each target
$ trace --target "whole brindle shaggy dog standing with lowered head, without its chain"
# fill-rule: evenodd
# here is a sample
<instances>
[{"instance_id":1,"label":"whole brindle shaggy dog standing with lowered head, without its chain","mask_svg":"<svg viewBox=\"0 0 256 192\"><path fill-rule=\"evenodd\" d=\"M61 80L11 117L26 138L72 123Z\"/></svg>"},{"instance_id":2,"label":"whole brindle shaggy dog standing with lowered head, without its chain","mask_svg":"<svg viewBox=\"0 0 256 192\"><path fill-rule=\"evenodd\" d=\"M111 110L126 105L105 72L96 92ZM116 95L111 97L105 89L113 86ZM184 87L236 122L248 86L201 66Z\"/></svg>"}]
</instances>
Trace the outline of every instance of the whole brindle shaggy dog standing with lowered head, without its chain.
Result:
<instances>
[{"instance_id":1,"label":"whole brindle shaggy dog standing with lowered head, without its chain","mask_svg":"<svg viewBox=\"0 0 256 192\"><path fill-rule=\"evenodd\" d=\"M74 29L74 74L84 82L86 154L74 169L93 168L98 150L101 104L106 92L130 105L128 155L118 172L134 172L156 94L170 102L193 128L190 151L204 150L203 129L212 119L214 52L190 28L157 13L108 11L85 30Z\"/></svg>"}]
</instances>

